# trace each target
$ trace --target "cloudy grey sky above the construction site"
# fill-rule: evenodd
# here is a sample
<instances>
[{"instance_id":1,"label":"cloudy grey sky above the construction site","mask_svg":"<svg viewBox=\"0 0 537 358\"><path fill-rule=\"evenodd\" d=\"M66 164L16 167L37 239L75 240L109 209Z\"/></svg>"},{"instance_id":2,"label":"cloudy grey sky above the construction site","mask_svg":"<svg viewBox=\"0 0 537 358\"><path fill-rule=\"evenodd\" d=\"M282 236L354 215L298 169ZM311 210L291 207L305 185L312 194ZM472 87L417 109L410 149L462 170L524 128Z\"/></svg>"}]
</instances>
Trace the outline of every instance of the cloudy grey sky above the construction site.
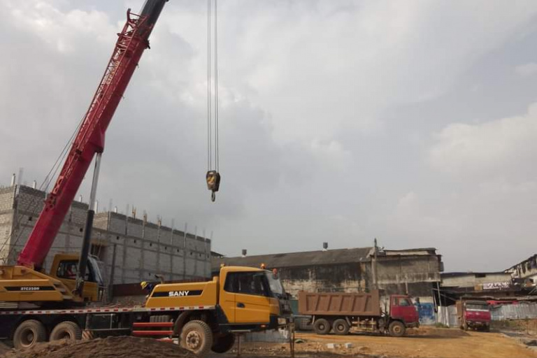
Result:
<instances>
[{"instance_id":1,"label":"cloudy grey sky above the construction site","mask_svg":"<svg viewBox=\"0 0 537 358\"><path fill-rule=\"evenodd\" d=\"M43 181L142 5L1 1L1 185ZM377 238L498 271L536 252L536 1L218 1L215 203L206 11L166 3L106 134L100 210L187 223L229 256Z\"/></svg>"}]
</instances>

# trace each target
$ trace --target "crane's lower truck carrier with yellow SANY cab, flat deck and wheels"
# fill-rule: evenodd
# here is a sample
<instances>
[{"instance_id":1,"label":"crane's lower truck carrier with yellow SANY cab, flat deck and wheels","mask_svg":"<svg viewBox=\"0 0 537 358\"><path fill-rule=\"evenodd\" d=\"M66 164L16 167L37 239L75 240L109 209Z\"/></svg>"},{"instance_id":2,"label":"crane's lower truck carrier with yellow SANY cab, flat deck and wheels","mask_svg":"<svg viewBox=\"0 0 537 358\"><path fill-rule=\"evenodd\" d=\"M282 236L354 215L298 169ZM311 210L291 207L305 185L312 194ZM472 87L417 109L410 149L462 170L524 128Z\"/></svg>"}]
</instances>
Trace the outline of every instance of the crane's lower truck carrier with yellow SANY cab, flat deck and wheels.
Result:
<instances>
[{"instance_id":1,"label":"crane's lower truck carrier with yellow SANY cab, flat deck and wheels","mask_svg":"<svg viewBox=\"0 0 537 358\"><path fill-rule=\"evenodd\" d=\"M276 329L291 314L272 271L224 266L206 282L161 283L139 307L0 310L0 337L15 348L43 341L132 335L169 340L196 355L227 352L234 334Z\"/></svg>"}]
</instances>

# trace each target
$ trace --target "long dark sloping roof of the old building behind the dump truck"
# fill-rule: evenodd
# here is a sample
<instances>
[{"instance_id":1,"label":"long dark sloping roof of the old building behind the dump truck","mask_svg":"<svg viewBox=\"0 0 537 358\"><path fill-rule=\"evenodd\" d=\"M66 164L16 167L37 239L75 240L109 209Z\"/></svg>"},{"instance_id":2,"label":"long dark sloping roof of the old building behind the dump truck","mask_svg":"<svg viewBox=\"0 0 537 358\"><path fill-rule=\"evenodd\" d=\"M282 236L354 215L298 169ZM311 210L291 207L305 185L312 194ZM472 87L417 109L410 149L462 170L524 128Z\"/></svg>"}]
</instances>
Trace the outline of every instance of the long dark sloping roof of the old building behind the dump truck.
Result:
<instances>
[{"instance_id":1,"label":"long dark sloping roof of the old building behind the dump truck","mask_svg":"<svg viewBox=\"0 0 537 358\"><path fill-rule=\"evenodd\" d=\"M373 248L336 249L327 251L289 252L285 254L255 255L248 257L213 257L213 268L220 264L227 266L259 267L265 264L267 268L282 268L296 266L349 264L355 262L368 262L369 252Z\"/></svg>"}]
</instances>

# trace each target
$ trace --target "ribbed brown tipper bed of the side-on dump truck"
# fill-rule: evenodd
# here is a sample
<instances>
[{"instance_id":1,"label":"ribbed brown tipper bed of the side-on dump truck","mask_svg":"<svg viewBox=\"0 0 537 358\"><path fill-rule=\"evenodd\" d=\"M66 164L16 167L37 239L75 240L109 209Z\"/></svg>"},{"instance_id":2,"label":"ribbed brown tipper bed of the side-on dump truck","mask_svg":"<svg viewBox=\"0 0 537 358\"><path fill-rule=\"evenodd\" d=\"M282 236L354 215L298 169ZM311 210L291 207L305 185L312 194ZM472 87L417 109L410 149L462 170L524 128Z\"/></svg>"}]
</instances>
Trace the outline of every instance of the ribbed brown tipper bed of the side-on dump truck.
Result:
<instances>
[{"instance_id":1,"label":"ribbed brown tipper bed of the side-on dump truck","mask_svg":"<svg viewBox=\"0 0 537 358\"><path fill-rule=\"evenodd\" d=\"M356 293L299 292L301 315L380 316L378 290Z\"/></svg>"}]
</instances>

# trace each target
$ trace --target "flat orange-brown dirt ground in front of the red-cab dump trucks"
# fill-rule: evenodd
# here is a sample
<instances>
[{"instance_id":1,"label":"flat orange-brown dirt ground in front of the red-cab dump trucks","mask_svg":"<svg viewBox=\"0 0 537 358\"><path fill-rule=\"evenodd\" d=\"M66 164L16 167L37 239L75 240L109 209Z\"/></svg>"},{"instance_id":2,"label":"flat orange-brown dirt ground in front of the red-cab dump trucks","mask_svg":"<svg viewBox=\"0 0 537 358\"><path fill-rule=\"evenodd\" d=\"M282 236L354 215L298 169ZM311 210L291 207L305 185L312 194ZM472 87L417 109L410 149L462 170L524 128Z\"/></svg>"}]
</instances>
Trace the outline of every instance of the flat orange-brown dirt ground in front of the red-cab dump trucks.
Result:
<instances>
[{"instance_id":1,"label":"flat orange-brown dirt ground in front of the red-cab dump trucks","mask_svg":"<svg viewBox=\"0 0 537 358\"><path fill-rule=\"evenodd\" d=\"M422 327L410 330L401 338L351 334L349 336L317 336L296 334L303 343L296 343L297 358L341 357L356 358L536 358L537 350L529 348L517 338L500 332L461 331L460 329L437 329ZM328 349L327 343L336 343ZM345 349L345 343L352 348ZM288 344L243 343L241 357L259 358L267 356L290 357ZM226 355L236 357L236 350ZM216 358L217 355L211 357ZM222 357L222 356L220 356Z\"/></svg>"}]
</instances>

